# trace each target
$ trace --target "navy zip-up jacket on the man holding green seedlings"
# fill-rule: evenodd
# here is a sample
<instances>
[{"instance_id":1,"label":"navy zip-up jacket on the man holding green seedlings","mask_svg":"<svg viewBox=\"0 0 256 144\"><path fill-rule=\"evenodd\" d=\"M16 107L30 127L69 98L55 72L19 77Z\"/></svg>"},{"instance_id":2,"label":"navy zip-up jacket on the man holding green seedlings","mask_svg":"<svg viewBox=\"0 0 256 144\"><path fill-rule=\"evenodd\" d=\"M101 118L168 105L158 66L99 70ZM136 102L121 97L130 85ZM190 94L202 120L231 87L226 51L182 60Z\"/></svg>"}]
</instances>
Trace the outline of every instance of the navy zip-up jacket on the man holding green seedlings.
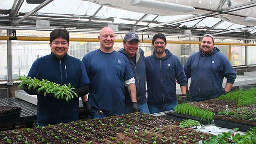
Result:
<instances>
[{"instance_id":1,"label":"navy zip-up jacket on the man holding green seedlings","mask_svg":"<svg viewBox=\"0 0 256 144\"><path fill-rule=\"evenodd\" d=\"M38 58L31 66L28 76L39 80L47 79L61 85L70 83L75 89L90 83L82 62L67 54L61 60L54 54ZM36 95L33 91L24 90L28 94ZM46 97L38 94L37 122L53 125L76 121L78 107L79 101L76 97L67 102L61 98L54 98L52 93L47 94Z\"/></svg>"}]
</instances>

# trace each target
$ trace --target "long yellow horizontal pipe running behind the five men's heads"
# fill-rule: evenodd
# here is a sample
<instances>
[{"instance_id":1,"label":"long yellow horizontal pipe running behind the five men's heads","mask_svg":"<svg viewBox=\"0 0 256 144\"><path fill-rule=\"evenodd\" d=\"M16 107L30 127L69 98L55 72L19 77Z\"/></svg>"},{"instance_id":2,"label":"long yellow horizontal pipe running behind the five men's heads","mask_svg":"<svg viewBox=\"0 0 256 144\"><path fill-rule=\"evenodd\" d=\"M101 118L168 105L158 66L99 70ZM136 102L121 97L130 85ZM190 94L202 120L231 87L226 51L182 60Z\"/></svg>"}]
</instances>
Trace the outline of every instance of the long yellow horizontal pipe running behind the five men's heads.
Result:
<instances>
[{"instance_id":1,"label":"long yellow horizontal pipe running behind the five men's heads","mask_svg":"<svg viewBox=\"0 0 256 144\"><path fill-rule=\"evenodd\" d=\"M0 36L0 40L9 40L13 36ZM26 37L17 36L17 40L21 41L50 41L49 37ZM77 42L99 42L98 38L69 38L69 41ZM123 39L115 39L115 42L123 42ZM140 40L141 43L152 43L152 40ZM201 44L199 41L167 41L170 44ZM240 46L256 46L256 44L240 44L240 43L215 43L215 45L240 45Z\"/></svg>"}]
</instances>

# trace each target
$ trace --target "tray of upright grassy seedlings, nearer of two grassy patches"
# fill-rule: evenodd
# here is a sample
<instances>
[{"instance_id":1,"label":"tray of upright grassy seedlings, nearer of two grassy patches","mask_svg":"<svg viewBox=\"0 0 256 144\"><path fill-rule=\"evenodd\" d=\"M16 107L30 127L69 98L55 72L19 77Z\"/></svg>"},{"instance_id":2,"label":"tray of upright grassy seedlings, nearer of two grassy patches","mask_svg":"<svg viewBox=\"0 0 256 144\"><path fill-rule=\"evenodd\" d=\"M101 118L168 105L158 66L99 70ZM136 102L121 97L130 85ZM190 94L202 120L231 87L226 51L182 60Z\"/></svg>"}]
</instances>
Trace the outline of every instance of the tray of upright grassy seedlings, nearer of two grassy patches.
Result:
<instances>
[{"instance_id":1,"label":"tray of upright grassy seedlings, nearer of two grassy patches","mask_svg":"<svg viewBox=\"0 0 256 144\"><path fill-rule=\"evenodd\" d=\"M200 121L202 124L208 124L212 121L213 112L209 110L200 109L186 103L176 105L174 107L174 110L175 112L169 112L166 114L181 119L192 119Z\"/></svg>"}]
</instances>

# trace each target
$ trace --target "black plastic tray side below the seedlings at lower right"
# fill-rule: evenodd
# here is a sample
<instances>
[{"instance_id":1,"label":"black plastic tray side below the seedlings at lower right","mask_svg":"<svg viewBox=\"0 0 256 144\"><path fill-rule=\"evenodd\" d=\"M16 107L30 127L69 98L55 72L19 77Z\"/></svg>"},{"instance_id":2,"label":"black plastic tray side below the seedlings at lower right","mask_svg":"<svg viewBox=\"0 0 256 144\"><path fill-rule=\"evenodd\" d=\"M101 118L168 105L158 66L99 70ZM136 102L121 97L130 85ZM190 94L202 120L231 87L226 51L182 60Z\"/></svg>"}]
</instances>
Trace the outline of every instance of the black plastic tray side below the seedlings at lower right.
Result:
<instances>
[{"instance_id":1,"label":"black plastic tray side below the seedlings at lower right","mask_svg":"<svg viewBox=\"0 0 256 144\"><path fill-rule=\"evenodd\" d=\"M251 130L251 128L253 128L253 126L243 125L243 124L238 124L238 123L232 123L232 122L227 122L227 121L222 121L222 120L217 120L217 119L214 119L214 118L213 118L213 121L214 121L216 126L229 128L229 129L239 128L239 131L243 131L243 132L247 132L248 130Z\"/></svg>"}]
</instances>

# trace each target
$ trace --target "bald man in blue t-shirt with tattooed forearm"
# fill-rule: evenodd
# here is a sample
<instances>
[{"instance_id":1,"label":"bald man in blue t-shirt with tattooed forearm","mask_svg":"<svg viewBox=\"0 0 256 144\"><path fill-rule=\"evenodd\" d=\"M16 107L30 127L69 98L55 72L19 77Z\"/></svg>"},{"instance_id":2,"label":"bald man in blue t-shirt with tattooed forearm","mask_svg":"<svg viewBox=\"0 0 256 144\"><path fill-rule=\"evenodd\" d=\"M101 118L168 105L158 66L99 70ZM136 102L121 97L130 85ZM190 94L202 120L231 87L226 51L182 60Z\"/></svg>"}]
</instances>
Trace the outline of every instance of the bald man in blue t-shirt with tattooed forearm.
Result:
<instances>
[{"instance_id":1,"label":"bald man in blue t-shirt with tattooed forearm","mask_svg":"<svg viewBox=\"0 0 256 144\"><path fill-rule=\"evenodd\" d=\"M134 75L125 55L113 50L113 29L102 28L98 39L100 48L86 54L82 59L91 82L89 99L83 102L89 111L88 118L123 114L125 86L133 102L132 112L139 112Z\"/></svg>"}]
</instances>

